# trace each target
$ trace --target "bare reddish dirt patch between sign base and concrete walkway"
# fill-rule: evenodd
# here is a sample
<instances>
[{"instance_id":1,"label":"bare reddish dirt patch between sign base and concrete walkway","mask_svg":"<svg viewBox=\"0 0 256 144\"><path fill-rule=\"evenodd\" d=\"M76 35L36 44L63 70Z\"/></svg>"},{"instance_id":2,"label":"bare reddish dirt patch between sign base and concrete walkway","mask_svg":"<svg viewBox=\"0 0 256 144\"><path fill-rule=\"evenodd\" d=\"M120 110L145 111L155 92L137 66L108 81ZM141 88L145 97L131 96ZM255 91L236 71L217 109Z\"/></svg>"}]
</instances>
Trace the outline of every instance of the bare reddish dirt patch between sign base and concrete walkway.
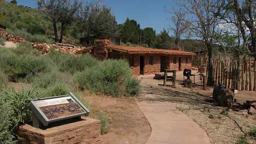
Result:
<instances>
[{"instance_id":1,"label":"bare reddish dirt patch between sign base and concrete walkway","mask_svg":"<svg viewBox=\"0 0 256 144\"><path fill-rule=\"evenodd\" d=\"M102 144L143 144L150 133L150 125L140 111L134 98L112 98L92 96L84 93L89 99L90 117L97 118L104 110L110 122L110 131L100 136Z\"/></svg>"}]
</instances>

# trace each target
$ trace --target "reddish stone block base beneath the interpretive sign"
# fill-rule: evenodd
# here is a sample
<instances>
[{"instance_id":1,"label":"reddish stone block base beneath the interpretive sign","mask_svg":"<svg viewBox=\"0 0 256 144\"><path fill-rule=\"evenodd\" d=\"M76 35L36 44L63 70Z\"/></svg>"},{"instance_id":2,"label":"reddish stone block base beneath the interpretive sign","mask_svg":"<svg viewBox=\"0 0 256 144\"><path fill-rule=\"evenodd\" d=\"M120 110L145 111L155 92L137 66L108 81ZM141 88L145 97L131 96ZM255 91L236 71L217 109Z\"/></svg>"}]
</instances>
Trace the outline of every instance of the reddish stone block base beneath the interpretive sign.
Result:
<instances>
[{"instance_id":1,"label":"reddish stone block base beneath the interpretive sign","mask_svg":"<svg viewBox=\"0 0 256 144\"><path fill-rule=\"evenodd\" d=\"M51 123L50 123L51 124ZM25 124L19 127L20 144L96 144L100 143L100 120L82 117L54 122L38 129Z\"/></svg>"}]
</instances>

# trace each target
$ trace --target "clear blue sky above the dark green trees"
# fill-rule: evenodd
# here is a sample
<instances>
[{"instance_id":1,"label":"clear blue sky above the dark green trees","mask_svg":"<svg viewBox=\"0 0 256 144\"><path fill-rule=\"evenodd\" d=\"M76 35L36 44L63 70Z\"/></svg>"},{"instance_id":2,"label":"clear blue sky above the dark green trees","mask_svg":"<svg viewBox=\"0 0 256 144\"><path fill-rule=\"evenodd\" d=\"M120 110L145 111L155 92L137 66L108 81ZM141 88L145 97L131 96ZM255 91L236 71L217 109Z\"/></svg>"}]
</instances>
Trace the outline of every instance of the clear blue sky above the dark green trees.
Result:
<instances>
[{"instance_id":1,"label":"clear blue sky above the dark green trees","mask_svg":"<svg viewBox=\"0 0 256 144\"><path fill-rule=\"evenodd\" d=\"M6 0L10 2L11 0ZM16 0L18 5L36 8L36 0ZM86 2L86 1L84 1ZM124 23L127 19L134 19L140 23L140 28L152 27L156 33L163 28L168 28L171 21L169 13L164 12L164 5L172 8L174 5L170 0L102 0L104 5L112 8L118 24ZM172 32L169 32L172 35Z\"/></svg>"}]
</instances>

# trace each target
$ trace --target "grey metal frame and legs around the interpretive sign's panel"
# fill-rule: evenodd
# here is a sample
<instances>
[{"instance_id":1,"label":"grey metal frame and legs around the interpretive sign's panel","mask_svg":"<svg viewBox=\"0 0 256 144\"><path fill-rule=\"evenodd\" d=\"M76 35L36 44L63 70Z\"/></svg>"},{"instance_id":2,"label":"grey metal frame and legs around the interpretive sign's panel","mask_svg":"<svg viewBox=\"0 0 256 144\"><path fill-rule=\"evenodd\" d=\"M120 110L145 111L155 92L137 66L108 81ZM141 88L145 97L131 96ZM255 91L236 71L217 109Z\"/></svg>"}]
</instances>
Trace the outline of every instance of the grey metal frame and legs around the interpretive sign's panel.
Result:
<instances>
[{"instance_id":1,"label":"grey metal frame and legs around the interpretive sign's panel","mask_svg":"<svg viewBox=\"0 0 256 144\"><path fill-rule=\"evenodd\" d=\"M82 110L84 110L84 112L75 114L75 115L70 115L70 116L63 116L63 117L59 117L59 118L48 119L47 116L45 116L45 114L43 113L43 111L35 103L35 101L38 101L38 100L49 100L49 99L67 97L67 96L71 97L76 102L76 104L78 104L82 108ZM54 97L30 100L30 108L33 112L33 126L36 128L40 128L42 124L44 126L47 126L49 123L52 123L52 122L69 119L69 118L73 118L73 117L81 117L84 115L89 116L89 114L90 114L90 111L71 92L69 92L68 95L61 95L61 96L54 96Z\"/></svg>"}]
</instances>

